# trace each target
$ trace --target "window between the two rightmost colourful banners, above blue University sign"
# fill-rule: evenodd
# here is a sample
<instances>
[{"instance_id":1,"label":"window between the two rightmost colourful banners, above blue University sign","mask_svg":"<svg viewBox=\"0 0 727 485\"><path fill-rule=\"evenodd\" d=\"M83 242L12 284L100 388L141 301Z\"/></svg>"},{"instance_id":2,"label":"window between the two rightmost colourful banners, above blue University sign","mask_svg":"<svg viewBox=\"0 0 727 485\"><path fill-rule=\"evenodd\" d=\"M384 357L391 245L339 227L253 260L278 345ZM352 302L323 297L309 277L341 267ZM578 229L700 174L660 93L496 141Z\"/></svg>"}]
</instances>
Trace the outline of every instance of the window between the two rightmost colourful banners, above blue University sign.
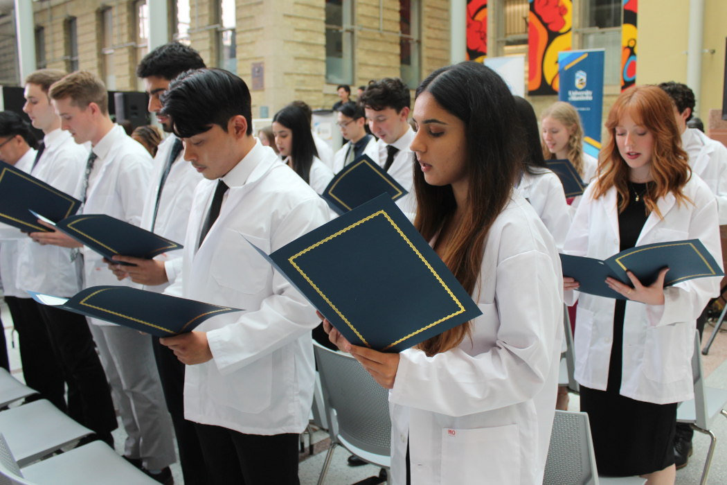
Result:
<instances>
[{"instance_id":1,"label":"window between the two rightmost colourful banners, above blue University sign","mask_svg":"<svg viewBox=\"0 0 727 485\"><path fill-rule=\"evenodd\" d=\"M583 1L583 49L606 49L603 84L621 84L622 0Z\"/></svg>"}]
</instances>

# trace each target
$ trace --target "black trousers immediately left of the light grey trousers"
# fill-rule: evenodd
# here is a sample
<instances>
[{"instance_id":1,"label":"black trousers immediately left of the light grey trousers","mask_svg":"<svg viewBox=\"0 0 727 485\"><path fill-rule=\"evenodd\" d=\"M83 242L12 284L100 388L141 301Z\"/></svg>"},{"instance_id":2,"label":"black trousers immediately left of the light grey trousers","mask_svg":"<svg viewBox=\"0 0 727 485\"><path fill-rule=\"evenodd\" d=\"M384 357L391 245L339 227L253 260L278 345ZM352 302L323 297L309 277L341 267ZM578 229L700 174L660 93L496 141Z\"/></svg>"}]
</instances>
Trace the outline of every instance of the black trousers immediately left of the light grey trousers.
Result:
<instances>
[{"instance_id":1,"label":"black trousers immediately left of the light grey trousers","mask_svg":"<svg viewBox=\"0 0 727 485\"><path fill-rule=\"evenodd\" d=\"M116 412L86 317L36 305L68 380L68 415L107 436L118 427Z\"/></svg>"}]
</instances>

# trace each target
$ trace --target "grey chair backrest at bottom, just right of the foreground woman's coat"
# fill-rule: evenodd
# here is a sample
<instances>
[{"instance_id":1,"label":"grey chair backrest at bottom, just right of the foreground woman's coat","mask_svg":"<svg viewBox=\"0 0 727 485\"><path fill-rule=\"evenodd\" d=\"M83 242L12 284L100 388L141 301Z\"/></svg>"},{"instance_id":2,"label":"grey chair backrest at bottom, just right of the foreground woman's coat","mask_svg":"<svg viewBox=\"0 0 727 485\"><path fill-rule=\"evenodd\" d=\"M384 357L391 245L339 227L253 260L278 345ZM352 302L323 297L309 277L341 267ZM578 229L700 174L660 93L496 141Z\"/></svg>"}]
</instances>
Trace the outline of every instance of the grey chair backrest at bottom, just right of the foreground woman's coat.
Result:
<instances>
[{"instance_id":1,"label":"grey chair backrest at bottom, just right of the foreground woman's coat","mask_svg":"<svg viewBox=\"0 0 727 485\"><path fill-rule=\"evenodd\" d=\"M598 485L588 414L556 411L543 485Z\"/></svg>"}]
</instances>

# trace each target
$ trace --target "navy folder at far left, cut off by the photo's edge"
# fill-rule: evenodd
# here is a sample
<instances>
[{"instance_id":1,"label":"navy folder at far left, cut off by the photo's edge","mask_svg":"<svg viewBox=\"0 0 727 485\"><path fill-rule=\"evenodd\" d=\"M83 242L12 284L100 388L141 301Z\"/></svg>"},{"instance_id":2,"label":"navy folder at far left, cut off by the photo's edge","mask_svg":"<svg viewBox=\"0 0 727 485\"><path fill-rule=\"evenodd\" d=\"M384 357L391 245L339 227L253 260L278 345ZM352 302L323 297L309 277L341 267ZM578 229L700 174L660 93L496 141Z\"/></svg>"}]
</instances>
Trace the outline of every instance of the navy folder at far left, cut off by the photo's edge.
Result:
<instances>
[{"instance_id":1,"label":"navy folder at far left, cut off by the photo's edge","mask_svg":"<svg viewBox=\"0 0 727 485\"><path fill-rule=\"evenodd\" d=\"M81 201L0 161L0 222L26 233L49 232L29 210L54 223L76 214Z\"/></svg>"}]
</instances>

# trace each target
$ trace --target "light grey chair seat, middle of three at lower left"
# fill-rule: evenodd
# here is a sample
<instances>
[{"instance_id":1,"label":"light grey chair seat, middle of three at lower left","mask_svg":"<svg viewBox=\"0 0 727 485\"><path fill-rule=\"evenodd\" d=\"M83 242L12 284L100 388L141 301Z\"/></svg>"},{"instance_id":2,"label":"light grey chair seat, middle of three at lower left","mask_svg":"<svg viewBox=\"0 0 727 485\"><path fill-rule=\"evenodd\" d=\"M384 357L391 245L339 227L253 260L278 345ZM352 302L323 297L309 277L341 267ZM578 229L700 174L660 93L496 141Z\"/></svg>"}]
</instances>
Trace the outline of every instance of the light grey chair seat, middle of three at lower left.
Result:
<instances>
[{"instance_id":1,"label":"light grey chair seat, middle of three at lower left","mask_svg":"<svg viewBox=\"0 0 727 485\"><path fill-rule=\"evenodd\" d=\"M0 433L23 468L93 431L41 399L0 412Z\"/></svg>"}]
</instances>

